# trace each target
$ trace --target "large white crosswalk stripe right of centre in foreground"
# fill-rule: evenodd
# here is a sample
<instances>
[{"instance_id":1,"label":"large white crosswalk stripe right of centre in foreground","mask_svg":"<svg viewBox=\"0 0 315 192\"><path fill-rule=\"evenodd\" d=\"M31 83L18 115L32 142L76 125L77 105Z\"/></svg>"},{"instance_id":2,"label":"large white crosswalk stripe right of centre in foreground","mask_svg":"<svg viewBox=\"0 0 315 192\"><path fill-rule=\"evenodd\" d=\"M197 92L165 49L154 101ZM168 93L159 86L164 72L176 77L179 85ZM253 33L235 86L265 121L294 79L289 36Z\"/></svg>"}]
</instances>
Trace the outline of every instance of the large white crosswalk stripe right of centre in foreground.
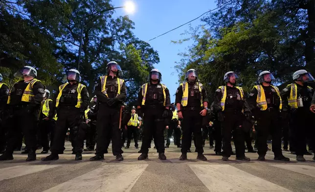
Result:
<instances>
[{"instance_id":1,"label":"large white crosswalk stripe right of centre in foreground","mask_svg":"<svg viewBox=\"0 0 315 192\"><path fill-rule=\"evenodd\" d=\"M188 165L210 192L291 192L230 165Z\"/></svg>"}]
</instances>

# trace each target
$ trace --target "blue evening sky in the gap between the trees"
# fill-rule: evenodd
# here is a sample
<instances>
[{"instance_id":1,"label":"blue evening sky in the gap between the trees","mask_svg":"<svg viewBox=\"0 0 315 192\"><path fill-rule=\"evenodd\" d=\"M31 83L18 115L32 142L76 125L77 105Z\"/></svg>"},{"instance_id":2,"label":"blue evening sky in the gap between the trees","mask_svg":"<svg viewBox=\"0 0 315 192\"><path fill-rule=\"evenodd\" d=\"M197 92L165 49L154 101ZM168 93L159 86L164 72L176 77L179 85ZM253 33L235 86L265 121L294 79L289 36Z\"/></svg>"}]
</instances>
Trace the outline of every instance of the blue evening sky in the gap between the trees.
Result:
<instances>
[{"instance_id":1,"label":"blue evening sky in the gap between the trees","mask_svg":"<svg viewBox=\"0 0 315 192\"><path fill-rule=\"evenodd\" d=\"M114 6L124 5L125 0L112 0ZM152 39L170 29L184 24L204 12L216 7L214 0L133 0L136 4L134 14L129 18L135 22L134 34L143 41ZM126 15L124 9L117 9L117 15ZM197 26L202 24L200 19L191 23ZM185 25L150 41L150 45L158 51L160 63L155 67L162 73L162 82L168 87L171 102L175 102L175 92L178 88L178 73L174 69L175 62L180 61L179 52L191 45L186 42L181 45L171 43L171 40L180 40L184 36L180 34L187 30Z\"/></svg>"}]
</instances>

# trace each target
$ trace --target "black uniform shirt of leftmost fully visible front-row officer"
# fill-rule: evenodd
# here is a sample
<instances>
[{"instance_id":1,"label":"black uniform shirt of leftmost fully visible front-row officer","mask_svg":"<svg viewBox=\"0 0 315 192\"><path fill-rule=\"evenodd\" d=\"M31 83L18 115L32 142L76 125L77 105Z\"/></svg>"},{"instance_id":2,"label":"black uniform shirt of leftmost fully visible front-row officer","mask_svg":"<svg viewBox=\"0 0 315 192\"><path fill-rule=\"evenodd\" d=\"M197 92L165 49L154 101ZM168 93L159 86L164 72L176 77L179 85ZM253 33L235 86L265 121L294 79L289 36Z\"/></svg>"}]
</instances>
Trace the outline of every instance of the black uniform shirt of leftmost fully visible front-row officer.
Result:
<instances>
[{"instance_id":1,"label":"black uniform shirt of leftmost fully visible front-row officer","mask_svg":"<svg viewBox=\"0 0 315 192\"><path fill-rule=\"evenodd\" d=\"M43 101L43 94L45 93L45 86L39 81L33 84L33 99L30 102L22 101L22 95L29 82L30 81L24 82L24 80L21 80L14 84L11 89L10 105L28 105L28 108L31 111L35 108L40 108Z\"/></svg>"}]
</instances>

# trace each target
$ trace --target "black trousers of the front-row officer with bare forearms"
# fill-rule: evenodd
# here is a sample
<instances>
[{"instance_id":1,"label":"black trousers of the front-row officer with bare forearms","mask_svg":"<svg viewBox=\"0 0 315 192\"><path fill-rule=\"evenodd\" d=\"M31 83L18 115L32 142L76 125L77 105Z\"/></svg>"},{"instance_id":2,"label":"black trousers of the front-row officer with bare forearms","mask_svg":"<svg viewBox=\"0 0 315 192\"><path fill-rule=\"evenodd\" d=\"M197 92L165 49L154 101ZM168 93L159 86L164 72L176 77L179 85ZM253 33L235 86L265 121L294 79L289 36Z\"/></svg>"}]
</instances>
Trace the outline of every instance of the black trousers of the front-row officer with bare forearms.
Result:
<instances>
[{"instance_id":1,"label":"black trousers of the front-row officer with bare forearms","mask_svg":"<svg viewBox=\"0 0 315 192\"><path fill-rule=\"evenodd\" d=\"M191 146L192 133L195 137L195 146L198 153L203 153L203 134L202 120L200 115L201 108L186 107L182 110L183 119L181 120L182 138L181 138L181 153L187 153Z\"/></svg>"}]
</instances>

